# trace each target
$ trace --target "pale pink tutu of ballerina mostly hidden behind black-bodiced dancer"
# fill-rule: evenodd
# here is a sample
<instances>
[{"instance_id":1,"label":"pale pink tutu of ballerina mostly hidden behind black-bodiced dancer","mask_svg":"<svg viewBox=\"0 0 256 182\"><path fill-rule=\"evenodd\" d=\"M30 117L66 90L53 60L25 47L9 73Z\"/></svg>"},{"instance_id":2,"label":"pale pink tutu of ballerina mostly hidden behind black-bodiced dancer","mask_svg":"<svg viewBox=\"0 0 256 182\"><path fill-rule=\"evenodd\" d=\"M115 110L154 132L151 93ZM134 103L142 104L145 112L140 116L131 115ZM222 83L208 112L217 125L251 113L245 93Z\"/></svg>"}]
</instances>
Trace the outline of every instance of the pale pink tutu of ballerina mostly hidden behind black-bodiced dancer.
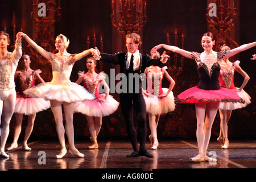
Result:
<instances>
[{"instance_id":1,"label":"pale pink tutu of ballerina mostly hidden behind black-bodiced dancer","mask_svg":"<svg viewBox=\"0 0 256 182\"><path fill-rule=\"evenodd\" d=\"M237 88L239 89L239 88ZM232 102L220 102L220 105L218 106L218 109L221 110L235 110L235 109L241 109L243 107L246 107L247 105L249 105L251 103L251 97L249 96L249 94L247 94L245 92L245 90L241 90L241 92L235 92L238 94L238 96L240 98L242 98L242 100L245 101L244 104L237 102L237 103L232 103Z\"/></svg>"}]
</instances>

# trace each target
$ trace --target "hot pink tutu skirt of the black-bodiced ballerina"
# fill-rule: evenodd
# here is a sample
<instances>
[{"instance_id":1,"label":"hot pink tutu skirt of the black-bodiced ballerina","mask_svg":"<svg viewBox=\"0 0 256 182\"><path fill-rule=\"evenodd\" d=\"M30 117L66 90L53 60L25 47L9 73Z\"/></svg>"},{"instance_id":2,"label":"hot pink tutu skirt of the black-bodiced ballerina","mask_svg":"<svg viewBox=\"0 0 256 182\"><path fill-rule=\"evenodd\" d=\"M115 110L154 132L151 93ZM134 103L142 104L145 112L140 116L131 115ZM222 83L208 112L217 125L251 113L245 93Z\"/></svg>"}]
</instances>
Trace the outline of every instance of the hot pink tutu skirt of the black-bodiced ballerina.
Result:
<instances>
[{"instance_id":1,"label":"hot pink tutu skirt of the black-bodiced ballerina","mask_svg":"<svg viewBox=\"0 0 256 182\"><path fill-rule=\"evenodd\" d=\"M204 90L199 89L197 86L193 86L181 92L177 98L175 98L176 104L184 104L184 103L199 103L199 102L233 102L233 103L244 103L235 92L221 88L219 90Z\"/></svg>"}]
</instances>

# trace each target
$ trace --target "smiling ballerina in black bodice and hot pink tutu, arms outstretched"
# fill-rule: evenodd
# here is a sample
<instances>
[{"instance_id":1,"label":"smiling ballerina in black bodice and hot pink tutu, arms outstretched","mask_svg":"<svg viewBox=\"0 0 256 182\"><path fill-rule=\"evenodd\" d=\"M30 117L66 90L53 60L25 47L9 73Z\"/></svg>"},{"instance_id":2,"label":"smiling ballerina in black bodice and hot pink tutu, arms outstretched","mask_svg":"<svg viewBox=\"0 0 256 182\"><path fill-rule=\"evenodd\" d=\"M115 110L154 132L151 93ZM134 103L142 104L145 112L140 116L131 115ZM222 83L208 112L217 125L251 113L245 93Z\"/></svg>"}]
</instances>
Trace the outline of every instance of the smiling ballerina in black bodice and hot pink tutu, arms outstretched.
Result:
<instances>
[{"instance_id":1,"label":"smiling ballerina in black bodice and hot pink tutu, arms outstretched","mask_svg":"<svg viewBox=\"0 0 256 182\"><path fill-rule=\"evenodd\" d=\"M230 51L215 52L212 49L214 43L215 40L213 40L212 33L208 32L201 38L201 46L204 48L204 52L202 53L189 52L176 46L168 46L165 44L159 44L151 50L151 52L155 52L159 48L165 48L189 59L193 59L197 63L197 71L199 72L200 79L199 84L180 93L176 98L176 103L195 103L196 106L196 137L199 154L189 159L194 162L208 162L209 160L213 160L214 162L217 161L217 159L209 158L207 156L207 148L219 102L244 102L235 92L220 87L218 76L220 75L221 61L224 57L234 56L239 52L256 46L256 42L253 42L244 44Z\"/></svg>"}]
</instances>

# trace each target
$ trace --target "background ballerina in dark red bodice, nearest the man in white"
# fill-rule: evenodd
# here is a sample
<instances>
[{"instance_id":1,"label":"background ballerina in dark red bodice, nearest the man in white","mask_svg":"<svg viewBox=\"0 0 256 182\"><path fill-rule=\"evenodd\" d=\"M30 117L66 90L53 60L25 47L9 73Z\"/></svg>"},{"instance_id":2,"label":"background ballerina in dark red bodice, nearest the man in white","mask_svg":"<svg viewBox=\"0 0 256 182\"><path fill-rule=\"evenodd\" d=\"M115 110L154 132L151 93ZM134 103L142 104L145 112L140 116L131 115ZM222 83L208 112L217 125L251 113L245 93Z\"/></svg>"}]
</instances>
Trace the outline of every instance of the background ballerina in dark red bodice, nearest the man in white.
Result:
<instances>
[{"instance_id":1,"label":"background ballerina in dark red bodice, nearest the man in white","mask_svg":"<svg viewBox=\"0 0 256 182\"><path fill-rule=\"evenodd\" d=\"M27 140L30 138L32 133L34 122L36 118L36 113L49 109L49 101L43 98L34 98L23 93L24 90L32 88L35 86L35 81L38 80L44 83L42 77L39 73L40 69L32 70L30 68L30 55L24 53L19 61L20 69L15 73L15 83L16 83L16 104L15 104L15 127L14 127L14 138L11 146L7 150L13 150L18 147L18 139L20 132L22 130L23 115L28 115L27 127L25 130L25 136L23 140L24 150L30 151L31 148L27 146ZM19 68L18 67L18 68Z\"/></svg>"}]
</instances>

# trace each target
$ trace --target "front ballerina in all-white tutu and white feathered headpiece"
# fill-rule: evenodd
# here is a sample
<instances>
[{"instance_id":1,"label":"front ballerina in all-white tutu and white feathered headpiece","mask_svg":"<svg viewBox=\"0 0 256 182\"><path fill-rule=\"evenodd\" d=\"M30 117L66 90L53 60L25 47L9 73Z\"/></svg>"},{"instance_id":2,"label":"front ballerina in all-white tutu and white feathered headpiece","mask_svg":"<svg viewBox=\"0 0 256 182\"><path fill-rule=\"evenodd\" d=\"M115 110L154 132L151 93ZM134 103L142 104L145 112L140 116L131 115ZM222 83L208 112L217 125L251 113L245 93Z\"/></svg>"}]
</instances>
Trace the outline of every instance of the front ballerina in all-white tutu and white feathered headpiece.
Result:
<instances>
[{"instance_id":1,"label":"front ballerina in all-white tutu and white feathered headpiece","mask_svg":"<svg viewBox=\"0 0 256 182\"><path fill-rule=\"evenodd\" d=\"M74 142L74 127L73 127L73 113L76 101L92 100L93 94L90 94L81 85L77 85L69 80L74 63L80 60L82 57L94 53L94 49L88 49L78 54L71 55L67 52L69 40L66 36L60 34L55 41L55 47L59 51L56 54L47 52L42 47L38 46L32 39L26 34L21 35L27 40L27 42L36 49L42 56L49 60L52 64L52 81L44 84L39 84L35 88L30 88L24 91L25 94L29 94L32 97L39 97L49 100L51 102L52 113L55 117L57 135L61 145L59 155L55 157L57 159L63 158L67 153L65 147L65 137L67 134L69 143L69 153L72 155L84 157L75 147ZM64 107L65 113L65 128L63 126L63 113L61 104Z\"/></svg>"}]
</instances>

